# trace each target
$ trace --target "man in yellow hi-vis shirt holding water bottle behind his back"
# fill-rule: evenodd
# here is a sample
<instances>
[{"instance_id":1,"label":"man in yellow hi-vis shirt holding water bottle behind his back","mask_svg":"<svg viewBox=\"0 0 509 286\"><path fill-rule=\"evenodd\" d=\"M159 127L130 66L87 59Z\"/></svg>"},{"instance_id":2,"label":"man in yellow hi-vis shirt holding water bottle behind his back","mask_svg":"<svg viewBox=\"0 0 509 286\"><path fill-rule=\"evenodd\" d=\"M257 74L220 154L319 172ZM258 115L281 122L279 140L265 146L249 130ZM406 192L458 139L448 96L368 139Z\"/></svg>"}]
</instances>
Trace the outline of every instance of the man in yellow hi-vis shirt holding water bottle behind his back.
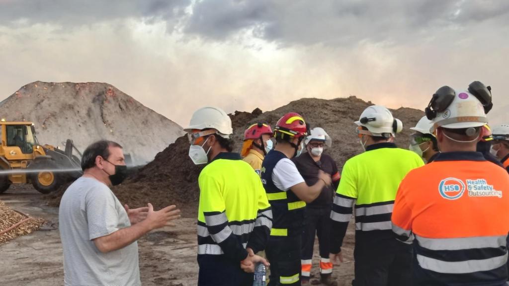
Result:
<instances>
[{"instance_id":1,"label":"man in yellow hi-vis shirt holding water bottle behind his back","mask_svg":"<svg viewBox=\"0 0 509 286\"><path fill-rule=\"evenodd\" d=\"M260 177L232 152L232 121L222 109L196 110L184 131L193 163L207 164L198 178L198 285L252 284L255 265L269 266L255 253L265 249L272 228Z\"/></svg>"}]
</instances>

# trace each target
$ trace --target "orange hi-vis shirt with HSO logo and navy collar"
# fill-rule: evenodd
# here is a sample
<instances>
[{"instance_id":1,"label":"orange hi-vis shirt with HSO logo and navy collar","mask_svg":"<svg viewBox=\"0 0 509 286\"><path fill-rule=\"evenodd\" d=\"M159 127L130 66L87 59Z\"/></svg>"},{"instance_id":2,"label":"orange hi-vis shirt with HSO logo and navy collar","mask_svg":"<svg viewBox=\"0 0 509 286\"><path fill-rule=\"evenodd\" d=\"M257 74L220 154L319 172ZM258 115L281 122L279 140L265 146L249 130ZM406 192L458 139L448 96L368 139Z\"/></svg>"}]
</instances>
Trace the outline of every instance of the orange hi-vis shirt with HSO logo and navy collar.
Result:
<instances>
[{"instance_id":1,"label":"orange hi-vis shirt with HSO logo and navy collar","mask_svg":"<svg viewBox=\"0 0 509 286\"><path fill-rule=\"evenodd\" d=\"M401 183L392 230L415 236L417 285L505 285L509 175L481 153L442 153Z\"/></svg>"}]
</instances>

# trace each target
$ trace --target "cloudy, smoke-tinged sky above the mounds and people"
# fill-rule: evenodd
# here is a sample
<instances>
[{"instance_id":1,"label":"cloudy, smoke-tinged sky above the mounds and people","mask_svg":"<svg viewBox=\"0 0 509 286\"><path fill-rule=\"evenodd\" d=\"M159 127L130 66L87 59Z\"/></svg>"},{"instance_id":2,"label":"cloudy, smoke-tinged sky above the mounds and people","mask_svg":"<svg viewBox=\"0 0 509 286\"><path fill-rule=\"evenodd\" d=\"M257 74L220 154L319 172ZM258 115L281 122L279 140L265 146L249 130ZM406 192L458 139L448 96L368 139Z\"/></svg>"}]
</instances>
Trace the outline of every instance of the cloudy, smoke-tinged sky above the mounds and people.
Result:
<instances>
[{"instance_id":1,"label":"cloudy, smoke-tinged sky above the mounds and people","mask_svg":"<svg viewBox=\"0 0 509 286\"><path fill-rule=\"evenodd\" d=\"M108 82L186 125L204 105L302 97L423 109L481 80L509 120L508 24L502 0L0 0L0 100L36 80Z\"/></svg>"}]
</instances>

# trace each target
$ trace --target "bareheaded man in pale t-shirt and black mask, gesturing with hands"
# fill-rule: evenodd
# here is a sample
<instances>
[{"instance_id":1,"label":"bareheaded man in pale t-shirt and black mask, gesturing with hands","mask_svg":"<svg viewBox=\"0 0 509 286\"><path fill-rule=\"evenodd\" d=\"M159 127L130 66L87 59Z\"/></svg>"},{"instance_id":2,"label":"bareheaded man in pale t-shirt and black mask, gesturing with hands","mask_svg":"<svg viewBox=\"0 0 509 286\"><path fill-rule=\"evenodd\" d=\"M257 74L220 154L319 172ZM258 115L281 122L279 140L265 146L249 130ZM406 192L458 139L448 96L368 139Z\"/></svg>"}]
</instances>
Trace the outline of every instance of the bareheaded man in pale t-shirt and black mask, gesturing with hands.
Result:
<instances>
[{"instance_id":1,"label":"bareheaded man in pale t-shirt and black mask, gesturing with hands","mask_svg":"<svg viewBox=\"0 0 509 286\"><path fill-rule=\"evenodd\" d=\"M175 206L129 209L109 189L127 176L122 147L98 141L81 159L83 176L67 188L59 209L66 286L141 285L136 240L168 225Z\"/></svg>"}]
</instances>

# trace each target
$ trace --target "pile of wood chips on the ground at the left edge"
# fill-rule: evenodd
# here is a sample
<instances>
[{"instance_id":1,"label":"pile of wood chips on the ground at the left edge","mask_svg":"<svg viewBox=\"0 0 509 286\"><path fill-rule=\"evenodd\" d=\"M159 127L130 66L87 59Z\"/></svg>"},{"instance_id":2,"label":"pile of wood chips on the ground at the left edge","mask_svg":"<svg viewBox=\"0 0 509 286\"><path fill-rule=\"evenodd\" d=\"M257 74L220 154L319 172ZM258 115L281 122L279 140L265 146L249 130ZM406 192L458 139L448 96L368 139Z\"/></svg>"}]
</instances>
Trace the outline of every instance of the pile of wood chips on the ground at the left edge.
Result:
<instances>
[{"instance_id":1,"label":"pile of wood chips on the ground at the left edge","mask_svg":"<svg viewBox=\"0 0 509 286\"><path fill-rule=\"evenodd\" d=\"M13 211L4 202L0 201L0 233L25 218L25 216ZM30 217L29 220L21 223L18 227L0 235L0 243L37 231L43 224L44 219Z\"/></svg>"}]
</instances>

